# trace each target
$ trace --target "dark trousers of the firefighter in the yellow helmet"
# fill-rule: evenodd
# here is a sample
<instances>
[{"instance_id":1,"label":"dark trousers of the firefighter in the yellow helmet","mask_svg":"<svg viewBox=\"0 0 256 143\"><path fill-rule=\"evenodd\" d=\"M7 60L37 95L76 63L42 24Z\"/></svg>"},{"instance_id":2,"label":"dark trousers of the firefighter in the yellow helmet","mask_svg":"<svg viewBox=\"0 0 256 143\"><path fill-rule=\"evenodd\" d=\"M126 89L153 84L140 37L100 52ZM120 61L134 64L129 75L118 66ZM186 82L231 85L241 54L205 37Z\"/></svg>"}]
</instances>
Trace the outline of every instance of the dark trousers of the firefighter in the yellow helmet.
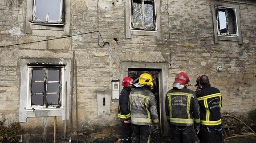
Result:
<instances>
[{"instance_id":1,"label":"dark trousers of the firefighter in the yellow helmet","mask_svg":"<svg viewBox=\"0 0 256 143\"><path fill-rule=\"evenodd\" d=\"M150 143L151 125L136 125L131 124L132 128L132 143Z\"/></svg>"}]
</instances>

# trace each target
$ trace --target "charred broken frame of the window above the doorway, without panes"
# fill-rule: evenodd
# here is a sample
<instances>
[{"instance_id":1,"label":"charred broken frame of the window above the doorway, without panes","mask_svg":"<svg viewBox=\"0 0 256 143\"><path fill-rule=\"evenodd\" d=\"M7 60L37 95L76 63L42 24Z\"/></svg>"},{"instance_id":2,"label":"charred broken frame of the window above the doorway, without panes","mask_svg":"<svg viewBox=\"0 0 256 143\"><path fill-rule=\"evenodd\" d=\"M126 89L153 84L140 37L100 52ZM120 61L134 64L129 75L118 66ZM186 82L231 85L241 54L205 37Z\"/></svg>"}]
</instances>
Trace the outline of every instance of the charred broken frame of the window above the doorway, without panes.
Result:
<instances>
[{"instance_id":1,"label":"charred broken frame of the window above the doorway, without panes","mask_svg":"<svg viewBox=\"0 0 256 143\"><path fill-rule=\"evenodd\" d=\"M141 2L141 12L138 12L134 9L134 4L138 2ZM146 3L152 3L152 13L153 13L153 25L154 27L153 28L150 28L150 29L147 29L146 28L146 24L145 24L145 5ZM146 30L146 31L156 31L156 8L155 8L155 0L130 0L130 21L131 21L131 29L138 29L138 30ZM141 23L142 23L142 26L141 27L135 27L134 26L134 12L138 12L142 15L142 19L141 20Z\"/></svg>"}]
</instances>

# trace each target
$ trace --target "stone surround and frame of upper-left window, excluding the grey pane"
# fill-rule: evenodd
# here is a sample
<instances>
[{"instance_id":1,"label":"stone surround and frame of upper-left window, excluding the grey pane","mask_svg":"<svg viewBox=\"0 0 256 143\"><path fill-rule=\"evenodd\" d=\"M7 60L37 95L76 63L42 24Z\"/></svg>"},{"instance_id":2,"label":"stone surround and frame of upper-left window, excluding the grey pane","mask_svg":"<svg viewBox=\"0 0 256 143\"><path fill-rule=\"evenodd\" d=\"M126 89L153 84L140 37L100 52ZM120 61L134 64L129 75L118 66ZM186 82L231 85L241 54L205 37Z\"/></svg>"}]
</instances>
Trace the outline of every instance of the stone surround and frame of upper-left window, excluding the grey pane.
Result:
<instances>
[{"instance_id":1,"label":"stone surround and frame of upper-left window, excluding the grey pane","mask_svg":"<svg viewBox=\"0 0 256 143\"><path fill-rule=\"evenodd\" d=\"M33 20L34 0L27 0L25 33L32 34L35 30L64 31L64 35L70 35L70 0L62 1L62 22Z\"/></svg>"}]
</instances>

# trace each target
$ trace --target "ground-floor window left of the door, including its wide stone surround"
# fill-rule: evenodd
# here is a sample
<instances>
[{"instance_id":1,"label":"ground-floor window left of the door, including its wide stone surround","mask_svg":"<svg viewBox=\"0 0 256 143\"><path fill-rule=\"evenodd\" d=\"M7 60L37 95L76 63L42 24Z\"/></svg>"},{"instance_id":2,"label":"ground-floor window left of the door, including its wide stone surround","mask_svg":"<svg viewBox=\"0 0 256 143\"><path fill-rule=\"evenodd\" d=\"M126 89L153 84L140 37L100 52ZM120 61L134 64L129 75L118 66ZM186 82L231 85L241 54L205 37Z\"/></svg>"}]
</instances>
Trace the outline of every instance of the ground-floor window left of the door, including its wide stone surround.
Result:
<instances>
[{"instance_id":1,"label":"ground-floor window left of the door, including its wide stone surround","mask_svg":"<svg viewBox=\"0 0 256 143\"><path fill-rule=\"evenodd\" d=\"M69 119L70 59L20 59L19 121L28 117Z\"/></svg>"}]
</instances>

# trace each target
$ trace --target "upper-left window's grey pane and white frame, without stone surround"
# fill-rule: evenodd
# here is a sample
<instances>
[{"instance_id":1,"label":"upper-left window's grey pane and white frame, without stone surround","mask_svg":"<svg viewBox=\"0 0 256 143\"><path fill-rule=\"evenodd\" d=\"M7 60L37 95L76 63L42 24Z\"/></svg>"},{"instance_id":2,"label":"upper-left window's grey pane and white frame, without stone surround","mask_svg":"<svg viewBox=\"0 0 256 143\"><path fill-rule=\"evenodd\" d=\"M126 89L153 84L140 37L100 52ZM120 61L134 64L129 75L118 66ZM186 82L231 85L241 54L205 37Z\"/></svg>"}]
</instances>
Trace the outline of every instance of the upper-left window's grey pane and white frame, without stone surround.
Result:
<instances>
[{"instance_id":1,"label":"upper-left window's grey pane and white frame, without stone surround","mask_svg":"<svg viewBox=\"0 0 256 143\"><path fill-rule=\"evenodd\" d=\"M33 23L64 23L63 0L33 0Z\"/></svg>"}]
</instances>

